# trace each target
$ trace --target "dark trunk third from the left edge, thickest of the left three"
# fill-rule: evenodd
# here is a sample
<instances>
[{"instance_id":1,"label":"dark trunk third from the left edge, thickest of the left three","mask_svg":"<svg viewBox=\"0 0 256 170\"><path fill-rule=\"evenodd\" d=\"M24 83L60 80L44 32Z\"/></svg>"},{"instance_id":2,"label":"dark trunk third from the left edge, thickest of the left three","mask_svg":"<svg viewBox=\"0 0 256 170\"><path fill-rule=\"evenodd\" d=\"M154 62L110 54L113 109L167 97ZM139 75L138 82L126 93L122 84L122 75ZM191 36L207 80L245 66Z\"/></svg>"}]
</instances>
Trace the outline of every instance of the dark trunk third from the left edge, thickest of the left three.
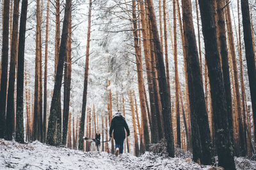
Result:
<instances>
[{"instance_id":1,"label":"dark trunk third from the left edge, thickest of the left three","mask_svg":"<svg viewBox=\"0 0 256 170\"><path fill-rule=\"evenodd\" d=\"M27 21L28 0L22 0L19 31L17 102L16 102L16 133L15 141L24 143L23 124L23 90L24 90L24 50ZM27 113L28 114L28 113Z\"/></svg>"}]
</instances>

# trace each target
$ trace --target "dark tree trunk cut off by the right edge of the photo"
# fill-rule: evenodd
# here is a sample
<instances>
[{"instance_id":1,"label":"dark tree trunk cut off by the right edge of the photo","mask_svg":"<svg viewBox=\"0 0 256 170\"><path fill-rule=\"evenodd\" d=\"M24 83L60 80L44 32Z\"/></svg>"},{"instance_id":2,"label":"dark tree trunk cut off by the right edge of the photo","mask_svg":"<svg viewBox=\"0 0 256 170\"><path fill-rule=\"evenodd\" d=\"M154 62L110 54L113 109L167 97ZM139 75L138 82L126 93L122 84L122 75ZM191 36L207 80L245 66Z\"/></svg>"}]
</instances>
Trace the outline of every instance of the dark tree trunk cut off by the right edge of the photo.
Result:
<instances>
[{"instance_id":1,"label":"dark tree trunk cut off by the right edge of the photo","mask_svg":"<svg viewBox=\"0 0 256 170\"><path fill-rule=\"evenodd\" d=\"M248 0L241 0L241 10L243 15L244 45L246 53L246 63L248 69L249 85L252 100L254 141L256 140L256 69L255 54L253 53L252 29L250 20L250 10Z\"/></svg>"}]
</instances>

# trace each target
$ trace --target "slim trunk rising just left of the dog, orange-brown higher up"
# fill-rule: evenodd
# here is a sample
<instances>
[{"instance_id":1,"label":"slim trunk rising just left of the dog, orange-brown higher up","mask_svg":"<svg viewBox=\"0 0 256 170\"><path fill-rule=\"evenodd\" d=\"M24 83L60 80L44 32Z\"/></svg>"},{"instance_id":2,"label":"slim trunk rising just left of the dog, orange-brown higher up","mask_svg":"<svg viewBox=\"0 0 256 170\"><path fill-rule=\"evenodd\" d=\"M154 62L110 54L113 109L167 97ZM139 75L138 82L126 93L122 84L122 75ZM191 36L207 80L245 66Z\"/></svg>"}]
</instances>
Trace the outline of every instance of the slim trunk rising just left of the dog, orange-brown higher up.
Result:
<instances>
[{"instance_id":1,"label":"slim trunk rising just left of the dog, orange-brown higher up","mask_svg":"<svg viewBox=\"0 0 256 170\"><path fill-rule=\"evenodd\" d=\"M88 69L89 69L89 55L90 55L91 16L92 16L92 0L90 0L89 12L88 12L88 30L87 30L87 46L86 46L86 63L85 63L85 69L84 69L83 105L82 105L79 141L78 141L79 150L83 150L84 118L85 118L86 101L87 101Z\"/></svg>"}]
</instances>

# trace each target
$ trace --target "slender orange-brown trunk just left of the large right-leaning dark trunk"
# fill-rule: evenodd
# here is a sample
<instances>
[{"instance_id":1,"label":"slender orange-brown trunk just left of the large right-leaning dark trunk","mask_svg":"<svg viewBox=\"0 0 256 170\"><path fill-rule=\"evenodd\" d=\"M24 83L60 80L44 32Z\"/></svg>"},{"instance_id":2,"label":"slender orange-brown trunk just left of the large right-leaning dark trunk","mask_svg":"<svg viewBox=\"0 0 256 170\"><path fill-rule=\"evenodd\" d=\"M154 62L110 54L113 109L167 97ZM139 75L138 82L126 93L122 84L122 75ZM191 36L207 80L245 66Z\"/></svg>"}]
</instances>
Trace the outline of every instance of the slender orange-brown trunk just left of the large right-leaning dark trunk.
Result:
<instances>
[{"instance_id":1,"label":"slender orange-brown trunk just left of the large right-leaning dark trunk","mask_svg":"<svg viewBox=\"0 0 256 170\"><path fill-rule=\"evenodd\" d=\"M49 4L47 0L46 12L46 31L45 31L45 60L44 60L44 125L43 125L43 142L46 138L46 118L47 118L47 66L48 66L48 32L49 32Z\"/></svg>"}]
</instances>

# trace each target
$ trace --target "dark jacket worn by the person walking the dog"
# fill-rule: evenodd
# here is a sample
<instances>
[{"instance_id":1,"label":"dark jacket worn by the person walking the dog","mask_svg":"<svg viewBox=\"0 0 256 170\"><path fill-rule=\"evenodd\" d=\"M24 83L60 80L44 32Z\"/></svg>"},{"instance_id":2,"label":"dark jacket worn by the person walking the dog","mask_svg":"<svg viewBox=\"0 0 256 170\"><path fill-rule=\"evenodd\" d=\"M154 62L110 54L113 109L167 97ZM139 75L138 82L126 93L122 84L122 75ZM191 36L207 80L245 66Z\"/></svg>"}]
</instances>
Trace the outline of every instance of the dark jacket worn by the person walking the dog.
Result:
<instances>
[{"instance_id":1,"label":"dark jacket worn by the person walking the dog","mask_svg":"<svg viewBox=\"0 0 256 170\"><path fill-rule=\"evenodd\" d=\"M125 121L125 118L121 115L121 113L116 113L112 120L109 129L109 136L111 136L112 131L114 130L114 139L124 139L125 138L125 131L127 131L127 136L130 135L130 130Z\"/></svg>"}]
</instances>

